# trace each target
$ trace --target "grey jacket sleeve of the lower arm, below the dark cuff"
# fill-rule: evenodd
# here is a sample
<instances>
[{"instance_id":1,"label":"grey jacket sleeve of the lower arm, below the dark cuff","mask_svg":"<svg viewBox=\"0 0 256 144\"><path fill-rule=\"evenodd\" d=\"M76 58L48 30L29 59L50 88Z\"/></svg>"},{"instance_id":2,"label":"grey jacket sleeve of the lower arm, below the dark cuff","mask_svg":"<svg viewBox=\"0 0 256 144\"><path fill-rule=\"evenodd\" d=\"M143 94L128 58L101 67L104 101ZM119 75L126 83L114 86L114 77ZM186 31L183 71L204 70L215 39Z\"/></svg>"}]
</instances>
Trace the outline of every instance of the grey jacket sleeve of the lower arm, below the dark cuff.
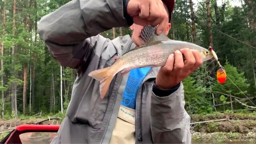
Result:
<instances>
[{"instance_id":1,"label":"grey jacket sleeve of the lower arm, below the dark cuff","mask_svg":"<svg viewBox=\"0 0 256 144\"><path fill-rule=\"evenodd\" d=\"M191 143L190 116L186 112L184 87L169 96L151 97L151 131L154 143Z\"/></svg>"}]
</instances>

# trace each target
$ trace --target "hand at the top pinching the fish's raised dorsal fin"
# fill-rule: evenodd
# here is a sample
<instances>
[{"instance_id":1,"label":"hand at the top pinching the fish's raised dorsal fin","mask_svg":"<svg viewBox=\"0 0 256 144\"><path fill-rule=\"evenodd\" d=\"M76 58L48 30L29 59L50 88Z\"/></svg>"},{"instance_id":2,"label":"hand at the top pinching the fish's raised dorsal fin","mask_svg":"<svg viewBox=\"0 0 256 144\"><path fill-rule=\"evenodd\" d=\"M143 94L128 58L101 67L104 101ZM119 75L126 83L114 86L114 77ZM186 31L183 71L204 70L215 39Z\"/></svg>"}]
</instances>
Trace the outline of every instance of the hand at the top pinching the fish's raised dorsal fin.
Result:
<instances>
[{"instance_id":1,"label":"hand at the top pinching the fish's raised dorsal fin","mask_svg":"<svg viewBox=\"0 0 256 144\"><path fill-rule=\"evenodd\" d=\"M133 18L134 24L157 26L156 33L166 31L168 25L168 10L162 0L130 0L127 5L127 13Z\"/></svg>"}]
</instances>

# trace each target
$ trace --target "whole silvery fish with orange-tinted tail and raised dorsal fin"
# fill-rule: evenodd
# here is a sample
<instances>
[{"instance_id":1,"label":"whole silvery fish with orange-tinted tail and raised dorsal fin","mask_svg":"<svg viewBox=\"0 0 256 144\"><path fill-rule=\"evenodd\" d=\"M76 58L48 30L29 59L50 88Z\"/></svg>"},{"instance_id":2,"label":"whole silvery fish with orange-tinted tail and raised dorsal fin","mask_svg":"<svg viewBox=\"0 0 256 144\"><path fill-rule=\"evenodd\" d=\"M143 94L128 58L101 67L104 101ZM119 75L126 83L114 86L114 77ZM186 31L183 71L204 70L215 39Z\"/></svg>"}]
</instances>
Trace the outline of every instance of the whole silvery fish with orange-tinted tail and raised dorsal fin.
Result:
<instances>
[{"instance_id":1,"label":"whole silvery fish with orange-tinted tail and raised dorsal fin","mask_svg":"<svg viewBox=\"0 0 256 144\"><path fill-rule=\"evenodd\" d=\"M144 45L138 46L121 56L109 67L94 70L88 76L100 81L100 97L104 98L114 76L121 72L125 75L134 68L161 67L166 64L170 54L176 50L190 48L198 50L203 62L213 58L210 50L194 43L171 40L165 34L156 34L156 27L146 25L142 28L139 38Z\"/></svg>"}]
</instances>

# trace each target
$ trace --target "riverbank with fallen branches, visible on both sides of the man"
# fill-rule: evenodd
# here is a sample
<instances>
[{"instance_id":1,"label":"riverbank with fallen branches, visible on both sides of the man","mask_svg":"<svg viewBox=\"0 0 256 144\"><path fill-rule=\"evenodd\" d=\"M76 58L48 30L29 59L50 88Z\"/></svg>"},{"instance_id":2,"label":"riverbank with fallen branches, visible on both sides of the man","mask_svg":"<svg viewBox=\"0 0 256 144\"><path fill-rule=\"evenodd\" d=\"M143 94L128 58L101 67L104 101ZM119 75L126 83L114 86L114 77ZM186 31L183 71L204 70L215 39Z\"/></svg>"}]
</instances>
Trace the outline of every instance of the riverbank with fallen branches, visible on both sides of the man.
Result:
<instances>
[{"instance_id":1,"label":"riverbank with fallen branches, visible on both sides of the man","mask_svg":"<svg viewBox=\"0 0 256 144\"><path fill-rule=\"evenodd\" d=\"M48 120L52 117L40 118L21 118L0 120L0 139L6 136L15 126L21 124L60 124L60 120ZM54 116L58 118L58 116ZM191 115L191 123L204 122L209 120L226 119L220 122L206 122L200 124L191 124L192 143L193 144L229 144L229 143L256 143L256 113L212 113L205 115ZM42 122L43 121L43 122Z\"/></svg>"}]
</instances>

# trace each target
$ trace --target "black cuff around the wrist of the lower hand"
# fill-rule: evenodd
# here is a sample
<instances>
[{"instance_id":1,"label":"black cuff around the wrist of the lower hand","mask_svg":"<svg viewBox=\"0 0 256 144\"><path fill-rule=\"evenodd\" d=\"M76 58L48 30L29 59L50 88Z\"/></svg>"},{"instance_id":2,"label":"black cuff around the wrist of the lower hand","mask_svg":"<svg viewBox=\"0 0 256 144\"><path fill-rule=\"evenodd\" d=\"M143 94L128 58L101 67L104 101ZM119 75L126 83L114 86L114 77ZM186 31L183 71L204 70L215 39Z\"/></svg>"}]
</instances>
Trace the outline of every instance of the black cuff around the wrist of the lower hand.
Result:
<instances>
[{"instance_id":1,"label":"black cuff around the wrist of the lower hand","mask_svg":"<svg viewBox=\"0 0 256 144\"><path fill-rule=\"evenodd\" d=\"M170 94L172 94L173 92L175 92L176 90L178 90L178 88L180 87L180 83L175 86L172 89L169 90L160 90L157 86L156 86L156 81L154 81L153 87L152 87L152 91L154 92L154 94L156 96L159 97L164 97L164 96L169 96Z\"/></svg>"}]
</instances>

